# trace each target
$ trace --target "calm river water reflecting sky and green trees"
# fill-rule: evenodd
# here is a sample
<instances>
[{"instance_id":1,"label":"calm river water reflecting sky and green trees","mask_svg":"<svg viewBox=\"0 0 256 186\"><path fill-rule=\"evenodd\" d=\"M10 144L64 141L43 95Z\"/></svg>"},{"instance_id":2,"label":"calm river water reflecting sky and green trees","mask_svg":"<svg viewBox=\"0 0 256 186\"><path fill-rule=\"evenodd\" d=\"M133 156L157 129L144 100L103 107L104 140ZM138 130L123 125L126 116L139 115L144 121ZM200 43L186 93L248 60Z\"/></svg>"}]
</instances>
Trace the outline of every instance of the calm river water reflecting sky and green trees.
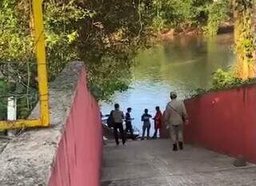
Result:
<instances>
[{"instance_id":1,"label":"calm river water reflecting sky and green trees","mask_svg":"<svg viewBox=\"0 0 256 186\"><path fill-rule=\"evenodd\" d=\"M178 97L190 97L194 89L210 88L212 73L228 69L234 63L233 35L222 34L214 39L178 37L151 49L140 51L132 69L130 89L115 93L113 101L133 109L133 125L141 131L140 118L144 109L154 115L155 106L163 110L170 91ZM101 103L102 113L110 113L113 103ZM152 122L153 123L153 122ZM153 127L151 128L153 133Z\"/></svg>"}]
</instances>

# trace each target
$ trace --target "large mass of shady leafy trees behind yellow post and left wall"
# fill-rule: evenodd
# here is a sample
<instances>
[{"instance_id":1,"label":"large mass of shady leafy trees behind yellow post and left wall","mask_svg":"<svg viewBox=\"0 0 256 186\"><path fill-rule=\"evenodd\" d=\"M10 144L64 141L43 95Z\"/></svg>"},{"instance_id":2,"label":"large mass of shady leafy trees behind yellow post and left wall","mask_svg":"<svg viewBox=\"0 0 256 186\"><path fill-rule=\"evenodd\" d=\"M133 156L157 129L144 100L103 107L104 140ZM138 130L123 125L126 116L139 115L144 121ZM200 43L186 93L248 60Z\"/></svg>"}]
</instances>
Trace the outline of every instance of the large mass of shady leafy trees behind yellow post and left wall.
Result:
<instances>
[{"instance_id":1,"label":"large mass of shady leafy trees behind yellow post and left wall","mask_svg":"<svg viewBox=\"0 0 256 186\"><path fill-rule=\"evenodd\" d=\"M82 60L98 99L127 89L132 58L146 42L146 24L150 23L143 14L146 2L43 1L50 81L67 62ZM37 89L30 6L29 0L0 2L0 70Z\"/></svg>"}]
</instances>

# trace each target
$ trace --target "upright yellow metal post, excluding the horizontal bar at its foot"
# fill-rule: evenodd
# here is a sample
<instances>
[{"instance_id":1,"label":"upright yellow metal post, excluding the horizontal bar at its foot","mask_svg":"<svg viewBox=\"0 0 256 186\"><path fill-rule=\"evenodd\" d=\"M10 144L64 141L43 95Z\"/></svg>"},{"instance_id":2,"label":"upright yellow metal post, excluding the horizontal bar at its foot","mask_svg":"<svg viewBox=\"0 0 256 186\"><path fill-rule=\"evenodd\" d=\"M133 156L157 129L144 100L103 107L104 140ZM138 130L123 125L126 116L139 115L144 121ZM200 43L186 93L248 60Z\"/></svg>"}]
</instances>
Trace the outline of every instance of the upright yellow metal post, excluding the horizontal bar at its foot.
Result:
<instances>
[{"instance_id":1,"label":"upright yellow metal post, excluding the horizontal bar at its foot","mask_svg":"<svg viewBox=\"0 0 256 186\"><path fill-rule=\"evenodd\" d=\"M46 44L42 21L42 0L33 0L34 39L38 59L38 89L40 96L40 120L42 126L50 125L48 103L48 79L46 69Z\"/></svg>"}]
</instances>

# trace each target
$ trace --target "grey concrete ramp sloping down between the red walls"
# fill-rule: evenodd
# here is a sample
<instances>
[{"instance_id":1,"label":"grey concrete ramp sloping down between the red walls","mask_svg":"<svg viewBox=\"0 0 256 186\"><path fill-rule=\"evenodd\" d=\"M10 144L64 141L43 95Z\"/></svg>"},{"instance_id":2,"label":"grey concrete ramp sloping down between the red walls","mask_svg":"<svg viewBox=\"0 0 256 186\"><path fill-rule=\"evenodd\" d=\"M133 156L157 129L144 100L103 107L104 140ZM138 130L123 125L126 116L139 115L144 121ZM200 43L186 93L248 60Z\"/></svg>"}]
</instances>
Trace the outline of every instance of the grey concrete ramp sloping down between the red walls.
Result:
<instances>
[{"instance_id":1,"label":"grey concrete ramp sloping down between the red walls","mask_svg":"<svg viewBox=\"0 0 256 186\"><path fill-rule=\"evenodd\" d=\"M235 168L233 158L170 140L109 141L104 147L102 186L256 185L256 166Z\"/></svg>"}]
</instances>

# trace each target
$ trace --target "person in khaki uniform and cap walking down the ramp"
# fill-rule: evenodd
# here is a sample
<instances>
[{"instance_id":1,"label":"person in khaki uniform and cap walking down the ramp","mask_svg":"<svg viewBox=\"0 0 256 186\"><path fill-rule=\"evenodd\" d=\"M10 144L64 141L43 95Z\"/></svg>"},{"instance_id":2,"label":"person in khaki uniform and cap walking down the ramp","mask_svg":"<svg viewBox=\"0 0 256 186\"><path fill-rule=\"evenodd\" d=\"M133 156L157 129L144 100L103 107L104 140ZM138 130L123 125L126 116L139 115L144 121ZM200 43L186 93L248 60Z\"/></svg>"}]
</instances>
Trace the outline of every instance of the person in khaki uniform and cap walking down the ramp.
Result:
<instances>
[{"instance_id":1,"label":"person in khaki uniform and cap walking down the ramp","mask_svg":"<svg viewBox=\"0 0 256 186\"><path fill-rule=\"evenodd\" d=\"M170 137L173 141L173 150L177 151L178 146L183 149L183 124L187 123L186 107L183 101L177 99L177 93L170 93L171 101L166 105L164 119L170 129Z\"/></svg>"}]
</instances>

